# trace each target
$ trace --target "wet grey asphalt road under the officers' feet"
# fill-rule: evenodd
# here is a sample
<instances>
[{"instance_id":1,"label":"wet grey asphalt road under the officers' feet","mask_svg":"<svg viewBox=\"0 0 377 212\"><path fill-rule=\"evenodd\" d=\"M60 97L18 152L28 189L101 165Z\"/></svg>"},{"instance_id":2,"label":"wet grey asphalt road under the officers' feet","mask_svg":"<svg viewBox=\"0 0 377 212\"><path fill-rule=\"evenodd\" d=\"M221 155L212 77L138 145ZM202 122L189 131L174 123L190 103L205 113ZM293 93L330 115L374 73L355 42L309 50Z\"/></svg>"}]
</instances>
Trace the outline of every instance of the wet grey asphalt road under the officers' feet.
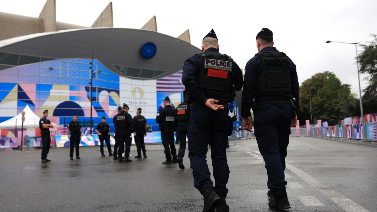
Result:
<instances>
[{"instance_id":1,"label":"wet grey asphalt road under the officers' feet","mask_svg":"<svg viewBox=\"0 0 377 212\"><path fill-rule=\"evenodd\" d=\"M80 160L69 160L69 149L51 149L44 164L40 150L1 151L0 210L201 211L187 152L181 170L162 165L161 145L147 145L148 158L131 163L100 157L98 149L80 148ZM270 211L256 140L231 141L228 164L230 210ZM291 138L285 173L288 211L377 211L377 147Z\"/></svg>"}]
</instances>

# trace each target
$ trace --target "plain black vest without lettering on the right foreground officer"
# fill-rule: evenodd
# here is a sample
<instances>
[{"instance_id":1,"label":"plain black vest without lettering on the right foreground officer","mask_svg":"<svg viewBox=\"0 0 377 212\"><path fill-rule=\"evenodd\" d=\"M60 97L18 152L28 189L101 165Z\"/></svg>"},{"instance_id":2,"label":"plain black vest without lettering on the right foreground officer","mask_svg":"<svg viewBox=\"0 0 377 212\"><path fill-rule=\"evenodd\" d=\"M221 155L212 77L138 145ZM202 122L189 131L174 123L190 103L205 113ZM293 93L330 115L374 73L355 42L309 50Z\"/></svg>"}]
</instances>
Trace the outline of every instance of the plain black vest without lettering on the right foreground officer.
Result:
<instances>
[{"instance_id":1,"label":"plain black vest without lettering on the right foreground officer","mask_svg":"<svg viewBox=\"0 0 377 212\"><path fill-rule=\"evenodd\" d=\"M261 58L263 70L257 77L255 93L291 93L287 55L283 52L259 52L256 56Z\"/></svg>"}]
</instances>

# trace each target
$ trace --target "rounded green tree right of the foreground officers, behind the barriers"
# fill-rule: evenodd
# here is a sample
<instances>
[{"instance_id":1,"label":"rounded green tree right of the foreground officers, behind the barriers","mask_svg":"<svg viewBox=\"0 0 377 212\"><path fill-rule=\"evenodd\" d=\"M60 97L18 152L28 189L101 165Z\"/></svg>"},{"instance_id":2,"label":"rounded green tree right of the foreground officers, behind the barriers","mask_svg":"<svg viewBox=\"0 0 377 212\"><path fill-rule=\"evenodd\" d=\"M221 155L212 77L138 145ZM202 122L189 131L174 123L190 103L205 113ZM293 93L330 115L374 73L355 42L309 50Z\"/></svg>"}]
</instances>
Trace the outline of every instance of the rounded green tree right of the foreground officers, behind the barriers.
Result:
<instances>
[{"instance_id":1,"label":"rounded green tree right of the foreground officers, behind the barriers","mask_svg":"<svg viewBox=\"0 0 377 212\"><path fill-rule=\"evenodd\" d=\"M300 86L299 119L310 120L310 101L313 119L323 121L342 120L352 115L355 99L349 84L342 84L333 72L313 75Z\"/></svg>"}]
</instances>

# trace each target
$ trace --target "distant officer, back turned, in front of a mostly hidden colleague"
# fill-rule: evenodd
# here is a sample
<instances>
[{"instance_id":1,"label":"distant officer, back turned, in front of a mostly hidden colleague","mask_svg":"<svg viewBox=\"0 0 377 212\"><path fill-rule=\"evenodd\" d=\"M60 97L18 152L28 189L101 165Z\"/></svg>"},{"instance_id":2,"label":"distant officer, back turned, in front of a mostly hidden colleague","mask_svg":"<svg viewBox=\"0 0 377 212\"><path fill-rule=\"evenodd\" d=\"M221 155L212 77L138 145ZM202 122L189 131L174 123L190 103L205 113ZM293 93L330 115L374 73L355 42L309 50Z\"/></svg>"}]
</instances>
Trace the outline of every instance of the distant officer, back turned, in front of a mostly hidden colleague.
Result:
<instances>
[{"instance_id":1,"label":"distant officer, back turned, in front of a mostly hidden colleague","mask_svg":"<svg viewBox=\"0 0 377 212\"><path fill-rule=\"evenodd\" d=\"M133 121L131 115L128 113L130 108L127 104L123 104L122 111L120 114L116 116L116 122L114 123L115 129L119 129L119 142L118 142L118 161L119 163L123 162L122 154L124 143L126 143L126 151L124 152L124 162L132 162L130 157L130 147L131 147L131 131L132 131L132 124L135 122Z\"/></svg>"}]
</instances>

